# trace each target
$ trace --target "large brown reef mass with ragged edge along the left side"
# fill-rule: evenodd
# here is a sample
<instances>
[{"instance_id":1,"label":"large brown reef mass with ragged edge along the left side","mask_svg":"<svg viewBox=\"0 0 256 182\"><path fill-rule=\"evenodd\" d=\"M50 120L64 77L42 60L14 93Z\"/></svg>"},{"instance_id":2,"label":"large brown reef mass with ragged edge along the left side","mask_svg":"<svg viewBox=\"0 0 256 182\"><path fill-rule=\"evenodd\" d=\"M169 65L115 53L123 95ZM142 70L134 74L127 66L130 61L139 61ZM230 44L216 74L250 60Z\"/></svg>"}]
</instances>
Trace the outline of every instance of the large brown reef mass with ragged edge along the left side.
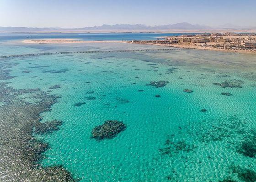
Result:
<instances>
[{"instance_id":1,"label":"large brown reef mass with ragged edge along the left side","mask_svg":"<svg viewBox=\"0 0 256 182\"><path fill-rule=\"evenodd\" d=\"M18 96L37 99L28 103ZM43 152L48 144L33 135L58 129L61 121L41 123L42 112L50 111L58 96L40 89L14 89L0 83L0 177L3 182L75 182L61 166L42 167ZM38 129L37 129L38 128Z\"/></svg>"}]
</instances>

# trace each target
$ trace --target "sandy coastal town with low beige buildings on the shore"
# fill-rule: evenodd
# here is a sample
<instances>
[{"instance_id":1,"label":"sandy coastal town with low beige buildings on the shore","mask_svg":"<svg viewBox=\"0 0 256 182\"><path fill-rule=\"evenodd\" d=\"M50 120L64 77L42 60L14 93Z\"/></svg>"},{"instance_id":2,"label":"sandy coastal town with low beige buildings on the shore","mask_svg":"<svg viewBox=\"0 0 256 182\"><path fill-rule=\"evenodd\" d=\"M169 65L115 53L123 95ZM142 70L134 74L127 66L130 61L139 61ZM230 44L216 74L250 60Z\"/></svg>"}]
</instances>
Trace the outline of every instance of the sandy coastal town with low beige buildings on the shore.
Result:
<instances>
[{"instance_id":1,"label":"sandy coastal town with low beige buildings on the shore","mask_svg":"<svg viewBox=\"0 0 256 182\"><path fill-rule=\"evenodd\" d=\"M186 34L161 37L157 40L132 40L128 42L179 48L256 53L256 33Z\"/></svg>"}]
</instances>

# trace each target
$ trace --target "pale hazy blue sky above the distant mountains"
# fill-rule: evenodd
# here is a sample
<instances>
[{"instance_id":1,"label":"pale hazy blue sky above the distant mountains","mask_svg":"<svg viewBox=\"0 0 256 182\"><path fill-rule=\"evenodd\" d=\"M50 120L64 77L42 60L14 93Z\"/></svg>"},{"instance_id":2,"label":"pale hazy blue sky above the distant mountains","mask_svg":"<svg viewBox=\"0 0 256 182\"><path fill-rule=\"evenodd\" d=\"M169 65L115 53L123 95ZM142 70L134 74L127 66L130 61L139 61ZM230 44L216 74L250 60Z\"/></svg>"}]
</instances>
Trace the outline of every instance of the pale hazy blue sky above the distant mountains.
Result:
<instances>
[{"instance_id":1,"label":"pale hazy blue sky above the distant mountains","mask_svg":"<svg viewBox=\"0 0 256 182\"><path fill-rule=\"evenodd\" d=\"M256 26L256 0L0 0L0 26Z\"/></svg>"}]
</instances>

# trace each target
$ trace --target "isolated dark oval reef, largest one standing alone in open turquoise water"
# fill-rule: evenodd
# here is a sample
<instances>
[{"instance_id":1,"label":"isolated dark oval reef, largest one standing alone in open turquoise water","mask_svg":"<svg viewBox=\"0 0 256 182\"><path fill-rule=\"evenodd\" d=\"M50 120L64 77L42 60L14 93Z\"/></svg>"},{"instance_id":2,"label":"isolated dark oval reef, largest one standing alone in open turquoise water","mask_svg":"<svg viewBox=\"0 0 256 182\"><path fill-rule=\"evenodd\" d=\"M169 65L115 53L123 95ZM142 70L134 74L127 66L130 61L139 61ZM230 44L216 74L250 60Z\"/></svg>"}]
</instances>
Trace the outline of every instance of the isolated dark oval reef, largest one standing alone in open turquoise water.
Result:
<instances>
[{"instance_id":1,"label":"isolated dark oval reef, largest one standing alone in open turquoise water","mask_svg":"<svg viewBox=\"0 0 256 182\"><path fill-rule=\"evenodd\" d=\"M119 132L124 131L125 129L126 125L123 124L123 122L116 120L108 120L105 121L104 124L93 128L91 134L93 138L101 140L104 138L113 138Z\"/></svg>"}]
</instances>

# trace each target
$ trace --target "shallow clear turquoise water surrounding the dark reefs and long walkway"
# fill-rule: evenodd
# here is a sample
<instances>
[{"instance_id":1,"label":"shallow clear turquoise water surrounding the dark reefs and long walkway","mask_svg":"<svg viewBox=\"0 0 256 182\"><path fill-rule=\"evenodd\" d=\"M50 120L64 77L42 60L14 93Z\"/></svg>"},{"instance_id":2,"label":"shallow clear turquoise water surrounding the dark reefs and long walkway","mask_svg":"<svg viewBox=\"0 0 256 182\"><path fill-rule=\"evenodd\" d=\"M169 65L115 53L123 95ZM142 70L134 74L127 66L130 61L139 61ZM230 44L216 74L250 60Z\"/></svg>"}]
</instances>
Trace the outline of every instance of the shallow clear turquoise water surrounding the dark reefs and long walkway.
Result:
<instances>
[{"instance_id":1,"label":"shallow clear turquoise water surrounding the dark reefs and long walkway","mask_svg":"<svg viewBox=\"0 0 256 182\"><path fill-rule=\"evenodd\" d=\"M1 42L0 55L145 48L162 47L9 40ZM59 97L40 113L42 123L62 121L59 130L32 133L49 144L40 166L62 165L81 182L256 180L255 55L181 50L47 55L0 63L1 82L7 86ZM11 78L3 79L6 72ZM150 81L169 83L156 88L147 86ZM7 94L2 88L1 94ZM17 99L31 103L30 108L39 102L30 93ZM8 111L8 102L0 103L0 110ZM107 120L123 121L127 128L111 139L92 138L91 130ZM0 181L8 181L5 174L0 173Z\"/></svg>"}]
</instances>

